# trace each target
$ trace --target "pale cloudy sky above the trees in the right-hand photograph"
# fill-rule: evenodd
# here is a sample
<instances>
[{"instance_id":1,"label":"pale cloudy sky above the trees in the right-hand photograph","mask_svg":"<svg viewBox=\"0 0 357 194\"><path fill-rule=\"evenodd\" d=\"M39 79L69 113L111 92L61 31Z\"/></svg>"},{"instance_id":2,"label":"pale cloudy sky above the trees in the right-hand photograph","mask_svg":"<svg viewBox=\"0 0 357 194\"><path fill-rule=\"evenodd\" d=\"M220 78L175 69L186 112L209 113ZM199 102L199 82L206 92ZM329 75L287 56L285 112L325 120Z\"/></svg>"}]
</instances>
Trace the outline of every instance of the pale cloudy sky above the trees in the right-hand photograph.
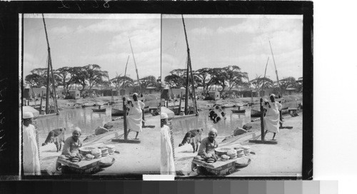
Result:
<instances>
[{"instance_id":1,"label":"pale cloudy sky above the trees in the right-hand photograph","mask_svg":"<svg viewBox=\"0 0 357 194\"><path fill-rule=\"evenodd\" d=\"M162 78L186 68L187 48L181 15L162 16ZM193 70L239 66L250 80L264 76L303 76L303 17L264 15L183 15ZM273 56L271 54L271 48ZM269 57L269 60L268 60Z\"/></svg>"}]
</instances>

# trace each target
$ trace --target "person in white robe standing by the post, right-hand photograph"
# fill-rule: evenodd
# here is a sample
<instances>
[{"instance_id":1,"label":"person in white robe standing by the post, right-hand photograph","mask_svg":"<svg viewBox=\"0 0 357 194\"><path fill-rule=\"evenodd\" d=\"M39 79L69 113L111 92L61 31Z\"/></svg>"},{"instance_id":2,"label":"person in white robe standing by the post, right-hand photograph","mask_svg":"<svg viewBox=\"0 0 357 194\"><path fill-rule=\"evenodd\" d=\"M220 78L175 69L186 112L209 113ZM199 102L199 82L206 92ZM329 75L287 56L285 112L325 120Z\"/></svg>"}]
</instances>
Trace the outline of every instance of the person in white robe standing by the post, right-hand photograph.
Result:
<instances>
[{"instance_id":1,"label":"person in white robe standing by the post, right-hand photograph","mask_svg":"<svg viewBox=\"0 0 357 194\"><path fill-rule=\"evenodd\" d=\"M266 129L266 133L268 131L274 133L272 141L276 141L275 135L279 133L279 122L280 122L280 113L281 111L281 103L275 101L275 95L272 93L270 95L271 102L266 101L264 108L266 109L266 116L264 117L264 128ZM266 135L264 133L264 136Z\"/></svg>"}]
</instances>

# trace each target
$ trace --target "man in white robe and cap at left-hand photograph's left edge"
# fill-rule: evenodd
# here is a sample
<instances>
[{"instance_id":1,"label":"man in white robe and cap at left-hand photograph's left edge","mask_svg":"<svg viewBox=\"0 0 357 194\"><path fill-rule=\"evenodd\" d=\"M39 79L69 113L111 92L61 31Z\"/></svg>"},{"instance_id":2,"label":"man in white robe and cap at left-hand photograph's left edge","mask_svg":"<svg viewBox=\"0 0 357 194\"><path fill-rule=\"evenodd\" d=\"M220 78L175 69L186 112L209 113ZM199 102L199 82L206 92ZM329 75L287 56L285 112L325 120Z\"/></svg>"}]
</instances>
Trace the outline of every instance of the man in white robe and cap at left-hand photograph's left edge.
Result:
<instances>
[{"instance_id":1,"label":"man in white robe and cap at left-hand photograph's left edge","mask_svg":"<svg viewBox=\"0 0 357 194\"><path fill-rule=\"evenodd\" d=\"M36 129L32 124L34 114L31 112L22 115L22 138L24 175L41 175L39 149L36 142Z\"/></svg>"}]
</instances>

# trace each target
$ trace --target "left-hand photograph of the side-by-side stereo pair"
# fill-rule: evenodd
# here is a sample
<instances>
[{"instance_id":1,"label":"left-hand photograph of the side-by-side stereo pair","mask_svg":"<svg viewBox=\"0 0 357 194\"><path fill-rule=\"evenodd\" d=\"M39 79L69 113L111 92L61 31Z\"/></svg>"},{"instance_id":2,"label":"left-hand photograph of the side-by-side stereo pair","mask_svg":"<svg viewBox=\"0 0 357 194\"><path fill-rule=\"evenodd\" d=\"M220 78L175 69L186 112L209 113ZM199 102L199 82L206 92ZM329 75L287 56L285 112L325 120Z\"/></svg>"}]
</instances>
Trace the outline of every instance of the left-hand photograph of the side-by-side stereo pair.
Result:
<instances>
[{"instance_id":1,"label":"left-hand photograph of the side-by-side stereo pair","mask_svg":"<svg viewBox=\"0 0 357 194\"><path fill-rule=\"evenodd\" d=\"M22 175L159 174L161 15L19 17Z\"/></svg>"}]
</instances>

